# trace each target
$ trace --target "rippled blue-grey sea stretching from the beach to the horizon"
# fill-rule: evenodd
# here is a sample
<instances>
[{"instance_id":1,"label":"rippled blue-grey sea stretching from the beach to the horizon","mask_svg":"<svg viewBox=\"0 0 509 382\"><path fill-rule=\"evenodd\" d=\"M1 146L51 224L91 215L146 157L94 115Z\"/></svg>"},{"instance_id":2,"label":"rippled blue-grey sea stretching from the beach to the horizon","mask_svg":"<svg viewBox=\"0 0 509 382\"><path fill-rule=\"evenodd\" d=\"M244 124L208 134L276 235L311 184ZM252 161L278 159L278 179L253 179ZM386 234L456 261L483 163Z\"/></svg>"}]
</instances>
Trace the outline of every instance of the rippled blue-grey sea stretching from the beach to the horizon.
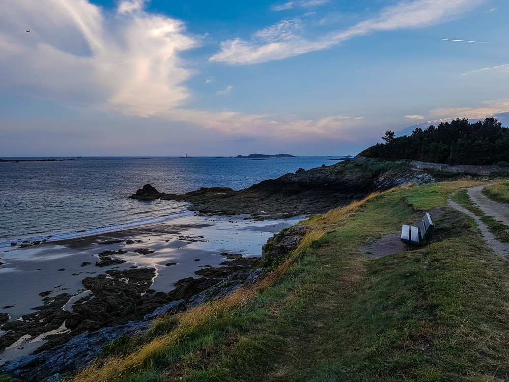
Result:
<instances>
[{"instance_id":1,"label":"rippled blue-grey sea stretching from the beach to the horizon","mask_svg":"<svg viewBox=\"0 0 509 382\"><path fill-rule=\"evenodd\" d=\"M146 183L171 193L212 186L241 189L299 168L308 170L337 162L331 158L341 156L266 160L82 157L0 162L0 248L12 241L50 235L52 239L74 237L190 213L183 202L128 199Z\"/></svg>"}]
</instances>

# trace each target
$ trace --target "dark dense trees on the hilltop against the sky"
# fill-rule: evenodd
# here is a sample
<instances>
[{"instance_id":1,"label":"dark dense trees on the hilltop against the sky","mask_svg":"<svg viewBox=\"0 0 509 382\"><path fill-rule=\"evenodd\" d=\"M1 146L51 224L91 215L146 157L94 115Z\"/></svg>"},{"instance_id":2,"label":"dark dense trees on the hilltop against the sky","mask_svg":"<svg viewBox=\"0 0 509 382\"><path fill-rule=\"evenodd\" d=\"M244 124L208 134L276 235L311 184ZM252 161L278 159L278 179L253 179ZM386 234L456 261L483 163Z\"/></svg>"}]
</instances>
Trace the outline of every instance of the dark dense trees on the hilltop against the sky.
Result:
<instances>
[{"instance_id":1,"label":"dark dense trees on the hilltop against the sky","mask_svg":"<svg viewBox=\"0 0 509 382\"><path fill-rule=\"evenodd\" d=\"M468 119L417 127L410 136L395 137L388 130L385 143L371 146L359 155L368 158L412 159L449 165L494 165L509 162L509 128L496 118L469 123Z\"/></svg>"}]
</instances>

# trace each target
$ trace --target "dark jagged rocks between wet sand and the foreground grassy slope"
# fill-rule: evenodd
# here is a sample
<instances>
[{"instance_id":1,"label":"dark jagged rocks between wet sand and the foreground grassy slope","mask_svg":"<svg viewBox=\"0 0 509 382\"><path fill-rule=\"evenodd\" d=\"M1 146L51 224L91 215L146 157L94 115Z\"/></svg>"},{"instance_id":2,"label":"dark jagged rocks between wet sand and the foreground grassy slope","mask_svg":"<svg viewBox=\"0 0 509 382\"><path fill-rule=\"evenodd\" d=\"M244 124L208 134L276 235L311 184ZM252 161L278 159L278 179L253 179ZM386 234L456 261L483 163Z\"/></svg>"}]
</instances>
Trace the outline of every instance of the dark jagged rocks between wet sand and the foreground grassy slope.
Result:
<instances>
[{"instance_id":1,"label":"dark jagged rocks between wet sand and the foreground grassy slope","mask_svg":"<svg viewBox=\"0 0 509 382\"><path fill-rule=\"evenodd\" d=\"M167 293L150 289L153 268L110 269L105 275L86 277L82 283L91 294L78 299L72 313L64 309L69 296L63 293L45 297L35 313L2 326L7 332L1 337L2 349L23 335L54 334L30 356L0 366L0 374L23 382L49 382L71 375L100 357L103 345L147 331L157 317L178 314L257 283L274 261L297 248L305 231L305 227L296 226L269 238L261 258L221 253L225 260L220 267L205 265L194 272L201 277L181 279Z\"/></svg>"}]
</instances>

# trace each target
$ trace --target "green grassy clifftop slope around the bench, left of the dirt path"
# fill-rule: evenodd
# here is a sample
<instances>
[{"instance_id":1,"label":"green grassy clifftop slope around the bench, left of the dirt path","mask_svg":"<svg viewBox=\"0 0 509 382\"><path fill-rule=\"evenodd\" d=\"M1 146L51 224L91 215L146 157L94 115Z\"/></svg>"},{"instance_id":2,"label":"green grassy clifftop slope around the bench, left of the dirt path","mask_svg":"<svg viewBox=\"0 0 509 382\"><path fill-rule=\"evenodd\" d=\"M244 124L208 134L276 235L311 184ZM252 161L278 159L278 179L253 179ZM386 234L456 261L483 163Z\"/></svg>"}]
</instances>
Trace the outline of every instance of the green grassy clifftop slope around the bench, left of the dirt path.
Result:
<instances>
[{"instance_id":1,"label":"green grassy clifftop slope around the bench, left of the dirt path","mask_svg":"<svg viewBox=\"0 0 509 382\"><path fill-rule=\"evenodd\" d=\"M446 208L465 185L394 190L309 221L319 239L310 238L270 287L250 291L250 302L222 303L205 319L195 315L198 324L162 320L156 332L172 341L148 357L138 350L137 360L117 359L130 366L108 380L506 380L509 264L489 252L470 219ZM358 250L435 207L445 212L428 247L380 259ZM147 346L155 345L116 351Z\"/></svg>"}]
</instances>

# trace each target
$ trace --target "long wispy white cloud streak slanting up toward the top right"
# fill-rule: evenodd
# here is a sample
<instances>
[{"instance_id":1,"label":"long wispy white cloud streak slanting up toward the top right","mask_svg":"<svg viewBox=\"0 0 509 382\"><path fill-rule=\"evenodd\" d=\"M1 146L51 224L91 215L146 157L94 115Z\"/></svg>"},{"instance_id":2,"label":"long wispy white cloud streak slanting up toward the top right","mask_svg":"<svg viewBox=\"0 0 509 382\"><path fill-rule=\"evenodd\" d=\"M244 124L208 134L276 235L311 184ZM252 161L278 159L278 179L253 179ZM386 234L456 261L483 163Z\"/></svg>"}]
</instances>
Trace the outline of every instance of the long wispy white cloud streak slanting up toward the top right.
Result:
<instances>
[{"instance_id":1,"label":"long wispy white cloud streak slanting up toward the top right","mask_svg":"<svg viewBox=\"0 0 509 382\"><path fill-rule=\"evenodd\" d=\"M323 50L353 37L378 31L394 31L406 28L423 28L450 19L469 11L484 0L414 0L383 9L377 17L359 22L343 31L307 39L302 34L274 34L274 38L259 41L255 33L251 41L240 38L223 41L220 51L209 61L231 65L255 64L281 60L298 54ZM274 28L277 24L270 26Z\"/></svg>"}]
</instances>

